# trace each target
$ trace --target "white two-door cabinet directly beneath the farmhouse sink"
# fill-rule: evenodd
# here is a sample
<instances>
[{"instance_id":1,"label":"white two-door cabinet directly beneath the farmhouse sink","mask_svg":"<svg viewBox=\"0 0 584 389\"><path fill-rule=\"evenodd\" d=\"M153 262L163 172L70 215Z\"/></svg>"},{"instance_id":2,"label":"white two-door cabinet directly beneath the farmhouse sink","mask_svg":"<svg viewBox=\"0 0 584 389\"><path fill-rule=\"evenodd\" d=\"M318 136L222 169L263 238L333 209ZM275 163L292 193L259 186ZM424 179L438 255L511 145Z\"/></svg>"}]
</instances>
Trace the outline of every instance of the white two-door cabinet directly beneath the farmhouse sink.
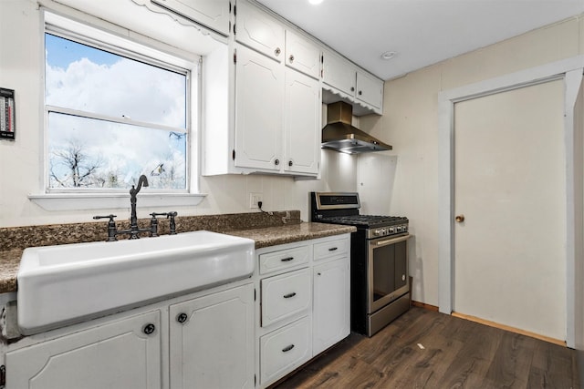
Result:
<instances>
[{"instance_id":1,"label":"white two-door cabinet directly beneath the farmhouse sink","mask_svg":"<svg viewBox=\"0 0 584 389\"><path fill-rule=\"evenodd\" d=\"M242 283L26 337L5 353L5 387L254 388L255 291Z\"/></svg>"}]
</instances>

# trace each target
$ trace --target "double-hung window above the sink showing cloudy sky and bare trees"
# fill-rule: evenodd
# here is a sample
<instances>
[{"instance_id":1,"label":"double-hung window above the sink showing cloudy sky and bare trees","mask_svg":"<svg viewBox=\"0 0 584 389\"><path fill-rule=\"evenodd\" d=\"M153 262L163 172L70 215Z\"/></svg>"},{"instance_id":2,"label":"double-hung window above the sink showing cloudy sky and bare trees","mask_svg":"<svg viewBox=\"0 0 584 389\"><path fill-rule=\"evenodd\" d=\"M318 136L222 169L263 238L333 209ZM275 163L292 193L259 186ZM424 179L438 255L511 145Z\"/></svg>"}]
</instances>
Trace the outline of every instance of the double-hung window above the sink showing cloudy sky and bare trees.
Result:
<instances>
[{"instance_id":1,"label":"double-hung window above the sink showing cloudy sky and bare trees","mask_svg":"<svg viewBox=\"0 0 584 389\"><path fill-rule=\"evenodd\" d=\"M125 193L141 174L149 190L188 192L197 74L193 61L149 46L47 23L47 192Z\"/></svg>"}]
</instances>

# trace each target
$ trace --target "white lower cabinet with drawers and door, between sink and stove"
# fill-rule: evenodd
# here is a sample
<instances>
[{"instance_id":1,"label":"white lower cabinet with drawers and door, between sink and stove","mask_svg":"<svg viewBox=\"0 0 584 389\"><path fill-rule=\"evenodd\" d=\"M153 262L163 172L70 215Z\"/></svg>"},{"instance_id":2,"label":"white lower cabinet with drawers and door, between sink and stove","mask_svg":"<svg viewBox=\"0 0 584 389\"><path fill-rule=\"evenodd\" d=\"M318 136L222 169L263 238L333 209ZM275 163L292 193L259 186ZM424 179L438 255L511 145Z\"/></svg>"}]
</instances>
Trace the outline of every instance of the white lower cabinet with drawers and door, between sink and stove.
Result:
<instances>
[{"instance_id":1,"label":"white lower cabinet with drawers and door, between sink and stove","mask_svg":"<svg viewBox=\"0 0 584 389\"><path fill-rule=\"evenodd\" d=\"M349 234L256 251L260 387L349 336L349 253Z\"/></svg>"}]
</instances>

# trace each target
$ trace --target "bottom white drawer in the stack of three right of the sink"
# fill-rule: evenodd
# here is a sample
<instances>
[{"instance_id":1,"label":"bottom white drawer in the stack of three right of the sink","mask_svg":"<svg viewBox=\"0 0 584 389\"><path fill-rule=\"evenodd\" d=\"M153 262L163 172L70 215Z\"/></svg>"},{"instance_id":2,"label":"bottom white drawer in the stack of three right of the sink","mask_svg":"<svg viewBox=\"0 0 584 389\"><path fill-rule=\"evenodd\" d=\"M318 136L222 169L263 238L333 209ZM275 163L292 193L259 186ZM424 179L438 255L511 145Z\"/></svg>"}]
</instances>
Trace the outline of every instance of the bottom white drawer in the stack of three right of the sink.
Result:
<instances>
[{"instance_id":1,"label":"bottom white drawer in the stack of three right of the sink","mask_svg":"<svg viewBox=\"0 0 584 389\"><path fill-rule=\"evenodd\" d=\"M262 386L290 373L312 357L310 320L304 317L260 338Z\"/></svg>"}]
</instances>

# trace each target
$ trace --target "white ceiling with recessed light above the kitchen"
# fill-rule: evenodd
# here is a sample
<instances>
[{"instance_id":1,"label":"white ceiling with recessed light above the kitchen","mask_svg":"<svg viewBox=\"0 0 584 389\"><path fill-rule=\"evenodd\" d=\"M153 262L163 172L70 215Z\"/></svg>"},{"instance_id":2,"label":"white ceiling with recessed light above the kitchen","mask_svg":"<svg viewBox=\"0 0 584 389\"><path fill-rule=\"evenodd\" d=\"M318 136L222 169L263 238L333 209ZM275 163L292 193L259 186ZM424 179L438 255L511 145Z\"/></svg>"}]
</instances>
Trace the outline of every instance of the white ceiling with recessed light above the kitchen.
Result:
<instances>
[{"instance_id":1,"label":"white ceiling with recessed light above the kitchen","mask_svg":"<svg viewBox=\"0 0 584 389\"><path fill-rule=\"evenodd\" d=\"M584 13L584 0L257 1L384 80Z\"/></svg>"}]
</instances>

